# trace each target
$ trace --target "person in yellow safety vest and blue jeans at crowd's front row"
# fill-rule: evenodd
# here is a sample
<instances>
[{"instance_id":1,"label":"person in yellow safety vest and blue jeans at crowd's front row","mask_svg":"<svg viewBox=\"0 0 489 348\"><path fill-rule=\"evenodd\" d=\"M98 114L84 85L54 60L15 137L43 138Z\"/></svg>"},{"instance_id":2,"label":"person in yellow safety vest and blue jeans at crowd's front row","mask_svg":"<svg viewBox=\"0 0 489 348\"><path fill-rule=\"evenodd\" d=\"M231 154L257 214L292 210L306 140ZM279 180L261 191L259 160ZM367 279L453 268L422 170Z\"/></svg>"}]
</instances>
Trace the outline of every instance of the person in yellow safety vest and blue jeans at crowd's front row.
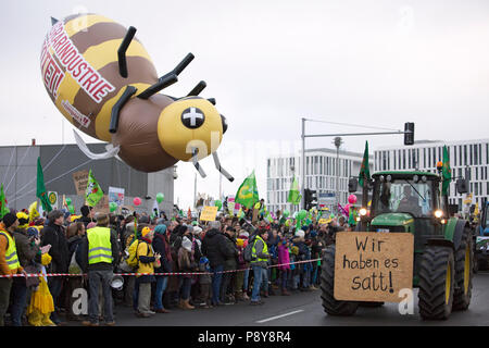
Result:
<instances>
[{"instance_id":1,"label":"person in yellow safety vest and blue jeans at crowd's front row","mask_svg":"<svg viewBox=\"0 0 489 348\"><path fill-rule=\"evenodd\" d=\"M260 298L260 287L262 279L264 278L264 273L268 266L269 253L268 247L266 246L266 239L268 239L268 234L266 229L260 228L256 236L254 237L253 247L251 249L251 269L253 270L253 290L251 293L250 304L263 304L264 302Z\"/></svg>"}]
</instances>

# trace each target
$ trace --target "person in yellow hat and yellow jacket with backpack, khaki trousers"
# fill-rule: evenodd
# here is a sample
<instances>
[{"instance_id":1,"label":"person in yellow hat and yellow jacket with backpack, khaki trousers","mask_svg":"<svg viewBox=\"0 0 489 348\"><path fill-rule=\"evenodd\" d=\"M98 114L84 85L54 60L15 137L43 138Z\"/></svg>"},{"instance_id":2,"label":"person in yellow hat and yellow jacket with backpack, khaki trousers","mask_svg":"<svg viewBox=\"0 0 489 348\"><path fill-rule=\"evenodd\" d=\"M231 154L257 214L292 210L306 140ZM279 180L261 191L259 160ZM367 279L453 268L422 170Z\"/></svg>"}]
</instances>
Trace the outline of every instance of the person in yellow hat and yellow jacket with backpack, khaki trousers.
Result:
<instances>
[{"instance_id":1,"label":"person in yellow hat and yellow jacket with backpack, khaki trousers","mask_svg":"<svg viewBox=\"0 0 489 348\"><path fill-rule=\"evenodd\" d=\"M138 287L138 307L136 315L138 318L149 318L155 312L150 309L151 303L151 283L154 283L154 268L160 268L160 253L154 252L152 241L154 231L149 226L141 229L141 239L137 246L138 269L136 273L136 286Z\"/></svg>"}]
</instances>

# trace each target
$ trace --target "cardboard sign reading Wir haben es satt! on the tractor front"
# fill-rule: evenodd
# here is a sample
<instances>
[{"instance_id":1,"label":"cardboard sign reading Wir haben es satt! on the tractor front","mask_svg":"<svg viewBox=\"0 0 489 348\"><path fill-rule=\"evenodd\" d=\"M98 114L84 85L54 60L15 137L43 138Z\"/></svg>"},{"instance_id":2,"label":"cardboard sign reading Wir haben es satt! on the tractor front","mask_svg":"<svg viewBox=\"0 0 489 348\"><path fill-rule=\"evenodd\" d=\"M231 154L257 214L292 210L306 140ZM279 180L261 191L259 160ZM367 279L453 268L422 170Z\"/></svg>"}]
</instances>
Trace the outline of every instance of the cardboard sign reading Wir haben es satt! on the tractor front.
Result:
<instances>
[{"instance_id":1,"label":"cardboard sign reading Wir haben es satt! on the tractor front","mask_svg":"<svg viewBox=\"0 0 489 348\"><path fill-rule=\"evenodd\" d=\"M336 234L337 300L400 302L413 287L414 236L410 233Z\"/></svg>"}]
</instances>

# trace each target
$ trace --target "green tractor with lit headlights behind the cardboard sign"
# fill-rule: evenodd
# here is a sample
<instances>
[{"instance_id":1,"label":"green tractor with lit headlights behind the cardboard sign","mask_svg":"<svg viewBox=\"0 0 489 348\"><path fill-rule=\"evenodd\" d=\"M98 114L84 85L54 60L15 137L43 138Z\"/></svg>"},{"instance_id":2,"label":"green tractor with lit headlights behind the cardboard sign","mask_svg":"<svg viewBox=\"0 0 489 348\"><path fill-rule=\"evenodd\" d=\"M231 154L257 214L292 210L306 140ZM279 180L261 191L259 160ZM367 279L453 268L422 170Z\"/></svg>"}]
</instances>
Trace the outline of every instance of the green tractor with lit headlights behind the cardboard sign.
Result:
<instances>
[{"instance_id":1,"label":"green tractor with lit headlights behind the cardboard sign","mask_svg":"<svg viewBox=\"0 0 489 348\"><path fill-rule=\"evenodd\" d=\"M350 179L350 191L356 191L356 184L355 178ZM360 222L355 228L414 235L413 288L419 289L419 314L425 320L444 320L452 310L466 310L472 297L472 231L467 221L451 216L448 197L441 195L441 184L442 176L429 172L375 173L363 185ZM459 192L465 189L456 187ZM368 197L372 197L371 207ZM359 306L383 304L336 300L334 282L335 245L331 245L325 249L322 261L325 312L353 315Z\"/></svg>"}]
</instances>

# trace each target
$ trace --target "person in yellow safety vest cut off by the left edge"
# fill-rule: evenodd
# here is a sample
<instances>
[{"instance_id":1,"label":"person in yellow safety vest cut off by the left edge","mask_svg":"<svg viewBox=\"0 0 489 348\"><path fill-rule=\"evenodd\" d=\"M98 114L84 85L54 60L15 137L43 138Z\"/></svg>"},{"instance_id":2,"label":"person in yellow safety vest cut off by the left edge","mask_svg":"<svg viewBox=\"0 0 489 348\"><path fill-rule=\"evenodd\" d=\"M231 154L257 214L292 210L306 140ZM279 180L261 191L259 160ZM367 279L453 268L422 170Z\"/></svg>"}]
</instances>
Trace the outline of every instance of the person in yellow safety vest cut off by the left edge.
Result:
<instances>
[{"instance_id":1,"label":"person in yellow safety vest cut off by the left edge","mask_svg":"<svg viewBox=\"0 0 489 348\"><path fill-rule=\"evenodd\" d=\"M13 232L18 226L17 216L7 213L0 223L0 275L23 273L15 248ZM9 309L12 277L0 277L0 326L4 326L3 316Z\"/></svg>"}]
</instances>

